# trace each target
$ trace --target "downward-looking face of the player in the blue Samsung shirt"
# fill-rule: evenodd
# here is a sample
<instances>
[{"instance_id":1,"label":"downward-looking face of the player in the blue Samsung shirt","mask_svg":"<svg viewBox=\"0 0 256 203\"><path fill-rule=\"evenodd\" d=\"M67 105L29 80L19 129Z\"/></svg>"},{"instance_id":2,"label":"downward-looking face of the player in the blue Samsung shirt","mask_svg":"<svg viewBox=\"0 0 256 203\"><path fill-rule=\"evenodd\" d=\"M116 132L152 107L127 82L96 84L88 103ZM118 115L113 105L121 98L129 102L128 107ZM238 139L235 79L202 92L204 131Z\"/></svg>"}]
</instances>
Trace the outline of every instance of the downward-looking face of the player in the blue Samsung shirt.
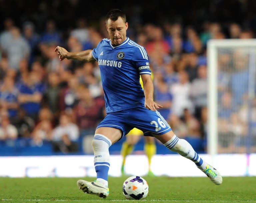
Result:
<instances>
[{"instance_id":1,"label":"downward-looking face of the player in the blue Samsung shirt","mask_svg":"<svg viewBox=\"0 0 256 203\"><path fill-rule=\"evenodd\" d=\"M125 23L120 16L116 21L108 19L106 28L108 30L112 45L121 45L126 40L126 30L128 28L128 23Z\"/></svg>"}]
</instances>

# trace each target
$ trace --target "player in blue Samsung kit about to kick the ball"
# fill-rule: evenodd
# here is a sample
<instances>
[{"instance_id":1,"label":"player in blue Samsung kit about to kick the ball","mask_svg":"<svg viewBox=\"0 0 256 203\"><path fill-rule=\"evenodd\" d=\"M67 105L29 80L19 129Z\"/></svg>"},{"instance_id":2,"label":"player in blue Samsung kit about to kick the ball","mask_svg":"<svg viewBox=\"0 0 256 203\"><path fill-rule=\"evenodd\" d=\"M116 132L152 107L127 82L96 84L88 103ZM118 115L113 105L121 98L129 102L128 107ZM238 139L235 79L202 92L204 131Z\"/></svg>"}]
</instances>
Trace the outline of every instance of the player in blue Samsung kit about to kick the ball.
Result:
<instances>
[{"instance_id":1,"label":"player in blue Samsung kit about to kick the ball","mask_svg":"<svg viewBox=\"0 0 256 203\"><path fill-rule=\"evenodd\" d=\"M193 161L215 184L222 183L220 173L206 163L184 139L179 139L157 109L162 106L153 100L153 82L145 49L126 36L128 23L125 14L113 9L106 15L110 39L103 39L93 50L68 52L56 47L59 59L98 61L105 93L106 117L97 126L92 147L97 180L78 180L79 189L105 198L109 195L109 147L134 127L144 136L154 136L166 148ZM144 91L140 85L140 75Z\"/></svg>"}]
</instances>

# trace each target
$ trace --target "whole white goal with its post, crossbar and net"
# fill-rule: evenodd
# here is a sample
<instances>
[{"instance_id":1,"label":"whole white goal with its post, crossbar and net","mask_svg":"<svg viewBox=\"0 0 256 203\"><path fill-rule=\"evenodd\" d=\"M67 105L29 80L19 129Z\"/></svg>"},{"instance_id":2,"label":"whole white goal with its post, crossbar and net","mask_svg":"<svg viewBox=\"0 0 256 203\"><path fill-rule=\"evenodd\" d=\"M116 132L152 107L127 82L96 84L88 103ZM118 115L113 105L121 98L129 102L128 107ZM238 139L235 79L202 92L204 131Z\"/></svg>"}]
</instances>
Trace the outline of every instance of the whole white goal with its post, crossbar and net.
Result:
<instances>
[{"instance_id":1,"label":"whole white goal with its post, crossbar and net","mask_svg":"<svg viewBox=\"0 0 256 203\"><path fill-rule=\"evenodd\" d=\"M256 152L256 40L210 40L207 152Z\"/></svg>"}]
</instances>

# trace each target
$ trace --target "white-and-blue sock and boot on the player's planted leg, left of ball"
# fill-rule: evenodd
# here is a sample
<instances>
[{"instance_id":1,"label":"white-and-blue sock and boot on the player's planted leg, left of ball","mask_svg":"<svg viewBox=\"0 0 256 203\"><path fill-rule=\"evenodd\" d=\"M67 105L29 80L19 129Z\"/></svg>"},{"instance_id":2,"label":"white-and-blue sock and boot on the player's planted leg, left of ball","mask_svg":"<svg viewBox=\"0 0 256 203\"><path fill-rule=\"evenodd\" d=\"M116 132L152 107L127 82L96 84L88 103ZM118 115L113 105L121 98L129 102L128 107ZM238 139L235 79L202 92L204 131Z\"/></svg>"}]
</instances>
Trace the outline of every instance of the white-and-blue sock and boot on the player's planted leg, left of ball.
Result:
<instances>
[{"instance_id":1,"label":"white-and-blue sock and boot on the player's planted leg, left of ball","mask_svg":"<svg viewBox=\"0 0 256 203\"><path fill-rule=\"evenodd\" d=\"M108 189L108 170L109 170L109 150L111 140L101 134L95 134L92 140L94 152L94 167L97 173L97 180L88 182L78 180L77 186L84 193L97 195L101 198L106 198L109 195Z\"/></svg>"}]
</instances>

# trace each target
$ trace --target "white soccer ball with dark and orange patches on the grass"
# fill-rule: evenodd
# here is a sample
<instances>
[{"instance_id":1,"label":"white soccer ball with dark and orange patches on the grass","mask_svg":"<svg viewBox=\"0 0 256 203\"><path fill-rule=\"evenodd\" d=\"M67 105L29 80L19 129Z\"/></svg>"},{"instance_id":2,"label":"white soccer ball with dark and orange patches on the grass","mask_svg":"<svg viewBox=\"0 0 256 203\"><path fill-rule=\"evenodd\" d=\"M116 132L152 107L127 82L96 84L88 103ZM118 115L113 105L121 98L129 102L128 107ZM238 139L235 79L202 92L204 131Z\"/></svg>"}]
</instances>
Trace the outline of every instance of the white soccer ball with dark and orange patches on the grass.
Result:
<instances>
[{"instance_id":1,"label":"white soccer ball with dark and orange patches on the grass","mask_svg":"<svg viewBox=\"0 0 256 203\"><path fill-rule=\"evenodd\" d=\"M126 199L144 199L148 195L148 183L140 176L131 176L124 181L123 194Z\"/></svg>"}]
</instances>

